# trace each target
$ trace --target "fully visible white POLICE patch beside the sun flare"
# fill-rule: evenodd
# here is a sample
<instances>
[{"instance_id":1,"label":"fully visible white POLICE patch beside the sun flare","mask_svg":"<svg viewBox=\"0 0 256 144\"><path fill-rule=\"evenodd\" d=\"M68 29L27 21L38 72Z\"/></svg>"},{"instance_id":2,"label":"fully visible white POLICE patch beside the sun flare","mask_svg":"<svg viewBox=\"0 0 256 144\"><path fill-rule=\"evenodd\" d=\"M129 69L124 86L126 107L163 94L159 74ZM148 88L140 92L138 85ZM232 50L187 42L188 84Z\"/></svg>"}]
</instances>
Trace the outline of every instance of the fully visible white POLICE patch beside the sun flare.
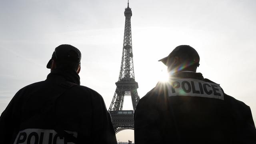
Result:
<instances>
[{"instance_id":1,"label":"fully visible white POLICE patch beside the sun flare","mask_svg":"<svg viewBox=\"0 0 256 144\"><path fill-rule=\"evenodd\" d=\"M192 78L173 79L167 85L168 96L199 96L224 100L219 84Z\"/></svg>"}]
</instances>

